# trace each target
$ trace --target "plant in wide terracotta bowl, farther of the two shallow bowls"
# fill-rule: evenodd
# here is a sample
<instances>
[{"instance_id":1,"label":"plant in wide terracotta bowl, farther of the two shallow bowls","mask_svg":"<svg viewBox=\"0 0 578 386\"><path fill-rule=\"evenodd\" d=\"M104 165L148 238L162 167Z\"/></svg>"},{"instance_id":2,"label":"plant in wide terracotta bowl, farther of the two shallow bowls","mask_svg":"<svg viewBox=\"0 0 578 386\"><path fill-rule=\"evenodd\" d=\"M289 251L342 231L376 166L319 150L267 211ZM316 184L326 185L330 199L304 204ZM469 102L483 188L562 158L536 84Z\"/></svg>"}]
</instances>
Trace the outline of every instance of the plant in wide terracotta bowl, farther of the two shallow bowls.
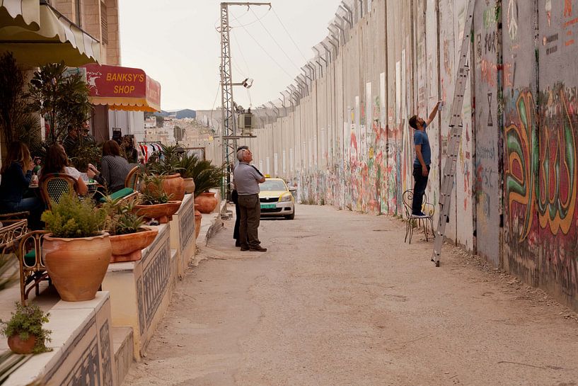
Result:
<instances>
[{"instance_id":1,"label":"plant in wide terracotta bowl, farther of the two shallow bowls","mask_svg":"<svg viewBox=\"0 0 578 386\"><path fill-rule=\"evenodd\" d=\"M163 189L163 178L154 174L144 174L140 203L134 205L139 216L146 219L156 218L161 224L173 219L180 208L180 200L170 200L171 196Z\"/></svg>"}]
</instances>

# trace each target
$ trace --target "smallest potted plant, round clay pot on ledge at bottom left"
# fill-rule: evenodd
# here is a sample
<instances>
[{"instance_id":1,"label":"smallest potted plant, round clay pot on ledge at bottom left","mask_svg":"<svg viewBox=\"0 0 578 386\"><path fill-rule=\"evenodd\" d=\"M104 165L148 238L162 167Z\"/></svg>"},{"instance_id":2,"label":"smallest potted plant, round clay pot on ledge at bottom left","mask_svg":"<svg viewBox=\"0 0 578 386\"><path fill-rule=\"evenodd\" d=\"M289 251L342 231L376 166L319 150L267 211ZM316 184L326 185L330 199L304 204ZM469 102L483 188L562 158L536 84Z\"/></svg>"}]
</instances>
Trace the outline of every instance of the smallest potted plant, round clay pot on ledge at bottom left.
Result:
<instances>
[{"instance_id":1,"label":"smallest potted plant, round clay pot on ledge at bottom left","mask_svg":"<svg viewBox=\"0 0 578 386\"><path fill-rule=\"evenodd\" d=\"M45 314L37 305L24 306L16 302L16 311L4 324L2 334L8 338L8 347L17 354L45 353L51 351L46 342L52 331L43 329L50 314Z\"/></svg>"}]
</instances>

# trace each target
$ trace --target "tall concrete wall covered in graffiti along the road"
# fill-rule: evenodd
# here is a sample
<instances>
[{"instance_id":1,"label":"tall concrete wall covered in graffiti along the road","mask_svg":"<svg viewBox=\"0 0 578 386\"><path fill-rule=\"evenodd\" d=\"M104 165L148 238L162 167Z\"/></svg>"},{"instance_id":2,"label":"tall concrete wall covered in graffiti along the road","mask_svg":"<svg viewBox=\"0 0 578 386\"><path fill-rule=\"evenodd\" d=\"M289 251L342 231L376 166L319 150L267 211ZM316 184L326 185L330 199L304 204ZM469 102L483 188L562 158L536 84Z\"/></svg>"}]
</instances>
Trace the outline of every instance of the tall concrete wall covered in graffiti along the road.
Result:
<instances>
[{"instance_id":1,"label":"tall concrete wall covered in graffiti along the road","mask_svg":"<svg viewBox=\"0 0 578 386\"><path fill-rule=\"evenodd\" d=\"M408 118L441 99L427 129L437 205L468 0L346 5L352 26L337 22L345 33L316 46L312 80L302 75L286 106L258 110L258 137L241 142L265 173L297 182L303 203L401 215L415 157ZM476 1L447 232L574 310L577 28L578 0Z\"/></svg>"}]
</instances>

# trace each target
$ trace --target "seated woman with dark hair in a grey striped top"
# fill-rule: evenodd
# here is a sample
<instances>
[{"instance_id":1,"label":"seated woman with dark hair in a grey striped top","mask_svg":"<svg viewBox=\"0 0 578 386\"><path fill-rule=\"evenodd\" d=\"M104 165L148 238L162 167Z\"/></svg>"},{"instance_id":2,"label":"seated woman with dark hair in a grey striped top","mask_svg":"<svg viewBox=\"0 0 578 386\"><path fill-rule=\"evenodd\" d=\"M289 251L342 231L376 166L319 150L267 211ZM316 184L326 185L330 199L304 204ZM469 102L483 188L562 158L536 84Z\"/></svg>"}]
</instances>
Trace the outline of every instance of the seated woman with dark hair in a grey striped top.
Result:
<instances>
[{"instance_id":1,"label":"seated woman with dark hair in a grey striped top","mask_svg":"<svg viewBox=\"0 0 578 386\"><path fill-rule=\"evenodd\" d=\"M125 187L125 179L132 169L125 157L120 155L120 147L115 140L103 144L103 160L101 171L88 164L86 174L94 178L100 185L106 186L108 194L120 191Z\"/></svg>"}]
</instances>

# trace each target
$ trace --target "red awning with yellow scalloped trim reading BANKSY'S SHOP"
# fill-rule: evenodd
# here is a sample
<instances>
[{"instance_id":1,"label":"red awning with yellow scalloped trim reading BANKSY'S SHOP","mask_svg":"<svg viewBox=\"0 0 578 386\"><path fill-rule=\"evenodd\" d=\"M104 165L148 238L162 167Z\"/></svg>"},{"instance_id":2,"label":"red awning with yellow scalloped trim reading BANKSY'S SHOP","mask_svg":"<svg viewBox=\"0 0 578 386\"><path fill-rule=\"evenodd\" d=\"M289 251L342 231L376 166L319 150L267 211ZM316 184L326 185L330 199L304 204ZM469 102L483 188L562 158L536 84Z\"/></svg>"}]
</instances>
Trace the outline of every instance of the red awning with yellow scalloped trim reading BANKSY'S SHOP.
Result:
<instances>
[{"instance_id":1,"label":"red awning with yellow scalloped trim reading BANKSY'S SHOP","mask_svg":"<svg viewBox=\"0 0 578 386\"><path fill-rule=\"evenodd\" d=\"M86 82L94 105L111 110L161 110L161 84L141 69L86 64Z\"/></svg>"}]
</instances>

